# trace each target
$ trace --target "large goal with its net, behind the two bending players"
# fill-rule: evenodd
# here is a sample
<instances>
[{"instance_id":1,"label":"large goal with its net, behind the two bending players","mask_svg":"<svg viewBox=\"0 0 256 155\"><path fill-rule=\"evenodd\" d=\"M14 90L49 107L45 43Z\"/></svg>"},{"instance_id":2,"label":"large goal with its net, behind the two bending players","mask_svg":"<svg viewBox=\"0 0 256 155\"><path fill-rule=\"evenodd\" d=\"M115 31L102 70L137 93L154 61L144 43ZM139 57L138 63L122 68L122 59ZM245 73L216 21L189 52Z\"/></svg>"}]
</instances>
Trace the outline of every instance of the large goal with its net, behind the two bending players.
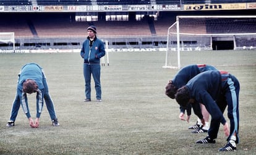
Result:
<instances>
[{"instance_id":1,"label":"large goal with its net, behind the two bending players","mask_svg":"<svg viewBox=\"0 0 256 155\"><path fill-rule=\"evenodd\" d=\"M180 15L168 28L163 68L180 69L181 51L256 49L256 15Z\"/></svg>"}]
</instances>

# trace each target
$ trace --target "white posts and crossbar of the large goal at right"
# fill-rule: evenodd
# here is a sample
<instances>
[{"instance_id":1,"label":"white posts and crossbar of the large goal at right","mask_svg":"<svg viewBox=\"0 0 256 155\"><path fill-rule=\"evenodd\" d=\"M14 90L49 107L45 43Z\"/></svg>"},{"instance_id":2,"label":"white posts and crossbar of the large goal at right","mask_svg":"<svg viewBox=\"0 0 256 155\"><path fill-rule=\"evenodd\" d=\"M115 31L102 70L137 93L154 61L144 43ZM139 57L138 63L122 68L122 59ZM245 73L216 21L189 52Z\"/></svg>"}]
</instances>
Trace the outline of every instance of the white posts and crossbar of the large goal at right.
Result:
<instances>
[{"instance_id":1,"label":"white posts and crossbar of the large goal at right","mask_svg":"<svg viewBox=\"0 0 256 155\"><path fill-rule=\"evenodd\" d=\"M167 43L166 43L166 59L165 59L165 65L163 66L163 68L165 69L181 69L181 43L180 43L180 35L191 35L191 36L239 36L239 35L256 35L256 31L255 33L214 33L214 34L192 34L192 33L180 33L180 23L179 20L180 19L192 19L192 18L198 18L198 19L203 19L203 18L212 18L212 19L224 19L224 18L237 18L237 19L242 19L242 18L255 18L256 19L256 15L177 15L176 16L176 22L173 23L173 25L171 25L168 28L168 34L167 34ZM171 28L173 28L174 26L176 26L176 32L172 33L170 32ZM169 50L169 35L176 35L176 39L177 39L177 65L168 65L168 50ZM234 40L235 43L235 40ZM236 48L234 46L234 48Z\"/></svg>"}]
</instances>

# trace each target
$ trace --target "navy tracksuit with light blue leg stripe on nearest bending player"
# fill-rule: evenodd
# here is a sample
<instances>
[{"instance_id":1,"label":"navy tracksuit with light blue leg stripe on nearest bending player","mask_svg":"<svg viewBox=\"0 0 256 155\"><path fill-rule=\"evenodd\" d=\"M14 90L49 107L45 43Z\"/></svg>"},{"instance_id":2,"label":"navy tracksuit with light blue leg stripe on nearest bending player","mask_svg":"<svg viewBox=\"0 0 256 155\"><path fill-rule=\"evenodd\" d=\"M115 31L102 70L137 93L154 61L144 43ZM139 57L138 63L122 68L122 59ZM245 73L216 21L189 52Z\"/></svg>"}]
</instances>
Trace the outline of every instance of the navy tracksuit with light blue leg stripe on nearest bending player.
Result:
<instances>
[{"instance_id":1,"label":"navy tracksuit with light blue leg stripe on nearest bending player","mask_svg":"<svg viewBox=\"0 0 256 155\"><path fill-rule=\"evenodd\" d=\"M210 70L196 75L189 80L186 86L189 88L190 98L204 104L211 114L211 124L208 130L211 139L217 138L220 123L223 125L226 123L223 112L228 105L228 118L230 120L228 140L236 132L236 143L238 143L240 86L236 77L228 72Z\"/></svg>"}]
</instances>

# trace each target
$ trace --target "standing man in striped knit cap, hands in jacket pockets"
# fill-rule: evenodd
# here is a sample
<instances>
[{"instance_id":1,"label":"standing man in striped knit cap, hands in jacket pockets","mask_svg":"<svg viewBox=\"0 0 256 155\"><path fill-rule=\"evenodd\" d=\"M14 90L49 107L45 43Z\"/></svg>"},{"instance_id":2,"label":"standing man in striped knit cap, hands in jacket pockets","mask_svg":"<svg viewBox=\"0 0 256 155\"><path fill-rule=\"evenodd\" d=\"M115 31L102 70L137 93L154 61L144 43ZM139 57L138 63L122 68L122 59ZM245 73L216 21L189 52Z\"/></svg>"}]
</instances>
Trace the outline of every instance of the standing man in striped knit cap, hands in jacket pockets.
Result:
<instances>
[{"instance_id":1,"label":"standing man in striped knit cap, hands in jacket pockets","mask_svg":"<svg viewBox=\"0 0 256 155\"><path fill-rule=\"evenodd\" d=\"M100 58L105 56L103 41L96 37L96 27L87 28L88 37L82 44L80 56L83 58L83 77L85 78L85 102L91 100L91 75L95 82L96 101L101 102Z\"/></svg>"}]
</instances>

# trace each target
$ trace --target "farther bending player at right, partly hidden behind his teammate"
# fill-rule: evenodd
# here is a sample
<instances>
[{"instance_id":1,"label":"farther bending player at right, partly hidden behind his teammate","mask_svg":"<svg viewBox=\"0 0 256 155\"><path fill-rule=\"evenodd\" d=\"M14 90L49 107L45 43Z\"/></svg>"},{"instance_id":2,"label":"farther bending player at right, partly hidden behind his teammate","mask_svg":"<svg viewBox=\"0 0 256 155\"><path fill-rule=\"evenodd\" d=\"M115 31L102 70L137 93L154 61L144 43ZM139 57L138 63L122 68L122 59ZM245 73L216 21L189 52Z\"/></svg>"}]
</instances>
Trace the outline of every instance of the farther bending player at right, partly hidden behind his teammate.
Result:
<instances>
[{"instance_id":1,"label":"farther bending player at right, partly hidden behind his teammate","mask_svg":"<svg viewBox=\"0 0 256 155\"><path fill-rule=\"evenodd\" d=\"M182 67L182 69L176 73L173 80L170 80L168 85L166 86L166 95L169 96L169 98L174 99L175 94L179 88L186 85L187 82L189 82L189 80L191 78L195 77L195 75L197 75L198 73L202 73L207 70L216 70L216 68L211 65L205 65L205 64L194 64L194 65L187 65L185 67ZM190 104L188 104L188 106L189 107L187 107L187 121L189 121L189 118L191 115ZM201 119L203 117L198 118L197 124L193 125L192 127L189 127L189 129L198 128L197 130L194 130L193 133L203 133L203 132L207 132L207 130L208 130L209 113L207 112L207 110L205 109L205 107L203 105L201 105L201 107L202 107L203 117L205 117L204 119L207 120L207 122L205 122L206 127L202 127ZM184 114L185 114L185 109L180 107L180 111L181 111L181 113L180 113L179 117L182 120L185 120L183 118Z\"/></svg>"}]
</instances>

